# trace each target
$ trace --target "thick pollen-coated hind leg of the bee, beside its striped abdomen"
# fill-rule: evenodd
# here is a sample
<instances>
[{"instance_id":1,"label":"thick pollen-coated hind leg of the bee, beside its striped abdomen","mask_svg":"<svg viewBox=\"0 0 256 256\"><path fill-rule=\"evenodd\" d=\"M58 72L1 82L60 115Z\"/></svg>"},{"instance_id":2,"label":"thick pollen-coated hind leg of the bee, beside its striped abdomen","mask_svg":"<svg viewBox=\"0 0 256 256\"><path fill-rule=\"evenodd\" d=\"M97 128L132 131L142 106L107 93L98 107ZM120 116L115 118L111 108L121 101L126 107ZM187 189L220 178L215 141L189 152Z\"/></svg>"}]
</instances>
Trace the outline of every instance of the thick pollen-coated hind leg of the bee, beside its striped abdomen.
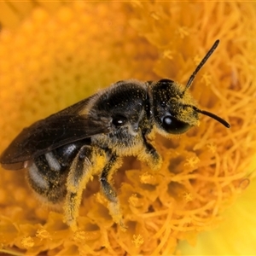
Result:
<instances>
[{"instance_id":1,"label":"thick pollen-coated hind leg of the bee, beside its striped abdomen","mask_svg":"<svg viewBox=\"0 0 256 256\"><path fill-rule=\"evenodd\" d=\"M76 230L76 218L86 183L93 175L93 148L83 146L75 156L67 176L67 195L64 202L64 221Z\"/></svg>"}]
</instances>

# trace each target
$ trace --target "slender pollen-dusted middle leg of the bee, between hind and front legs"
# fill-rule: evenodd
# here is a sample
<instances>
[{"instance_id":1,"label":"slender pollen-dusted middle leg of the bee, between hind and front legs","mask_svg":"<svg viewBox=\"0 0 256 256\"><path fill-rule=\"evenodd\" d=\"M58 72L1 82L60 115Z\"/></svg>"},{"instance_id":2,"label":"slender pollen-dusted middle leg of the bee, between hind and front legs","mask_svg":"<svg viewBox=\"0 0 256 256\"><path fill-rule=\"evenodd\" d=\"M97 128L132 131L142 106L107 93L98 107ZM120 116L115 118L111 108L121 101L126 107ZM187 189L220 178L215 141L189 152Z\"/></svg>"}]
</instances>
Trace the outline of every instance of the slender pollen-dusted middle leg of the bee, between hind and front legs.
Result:
<instances>
[{"instance_id":1,"label":"slender pollen-dusted middle leg of the bee, between hind and front legs","mask_svg":"<svg viewBox=\"0 0 256 256\"><path fill-rule=\"evenodd\" d=\"M100 183L102 186L102 193L109 201L108 209L113 217L114 222L120 224L123 229L126 229L125 224L123 224L118 197L113 187L108 182L108 180L113 176L113 172L116 171L120 165L121 160L117 157L117 155L113 154L108 161L108 164L103 168L100 177Z\"/></svg>"}]
</instances>

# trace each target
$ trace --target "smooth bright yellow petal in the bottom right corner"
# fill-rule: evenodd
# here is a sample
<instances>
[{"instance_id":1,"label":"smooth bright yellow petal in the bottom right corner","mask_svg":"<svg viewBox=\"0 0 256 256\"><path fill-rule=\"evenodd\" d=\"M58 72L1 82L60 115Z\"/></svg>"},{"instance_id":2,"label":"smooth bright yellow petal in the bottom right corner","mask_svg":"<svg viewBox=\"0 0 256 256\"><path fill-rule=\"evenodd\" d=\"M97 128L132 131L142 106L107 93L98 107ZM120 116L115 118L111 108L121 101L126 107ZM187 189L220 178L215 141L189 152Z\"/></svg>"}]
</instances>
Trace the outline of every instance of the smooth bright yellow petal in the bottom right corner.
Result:
<instances>
[{"instance_id":1,"label":"smooth bright yellow petal in the bottom right corner","mask_svg":"<svg viewBox=\"0 0 256 256\"><path fill-rule=\"evenodd\" d=\"M216 230L201 233L193 247L182 241L177 247L177 253L181 255L254 255L255 182L254 179L234 206L222 214L222 223Z\"/></svg>"}]
</instances>

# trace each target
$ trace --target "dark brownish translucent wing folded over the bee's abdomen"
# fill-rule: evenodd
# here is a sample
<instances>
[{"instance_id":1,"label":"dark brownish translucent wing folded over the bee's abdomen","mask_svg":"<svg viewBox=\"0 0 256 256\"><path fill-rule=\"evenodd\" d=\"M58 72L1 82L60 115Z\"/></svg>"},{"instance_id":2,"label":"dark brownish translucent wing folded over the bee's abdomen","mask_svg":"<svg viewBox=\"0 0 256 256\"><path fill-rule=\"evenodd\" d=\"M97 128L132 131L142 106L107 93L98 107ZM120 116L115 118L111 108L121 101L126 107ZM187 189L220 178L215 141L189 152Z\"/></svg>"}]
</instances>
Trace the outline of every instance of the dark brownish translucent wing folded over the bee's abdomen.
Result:
<instances>
[{"instance_id":1,"label":"dark brownish translucent wing folded over the bee's abdomen","mask_svg":"<svg viewBox=\"0 0 256 256\"><path fill-rule=\"evenodd\" d=\"M0 157L3 168L21 169L26 160L32 160L54 148L110 132L109 119L73 114L70 109L39 120L21 131Z\"/></svg>"}]
</instances>

